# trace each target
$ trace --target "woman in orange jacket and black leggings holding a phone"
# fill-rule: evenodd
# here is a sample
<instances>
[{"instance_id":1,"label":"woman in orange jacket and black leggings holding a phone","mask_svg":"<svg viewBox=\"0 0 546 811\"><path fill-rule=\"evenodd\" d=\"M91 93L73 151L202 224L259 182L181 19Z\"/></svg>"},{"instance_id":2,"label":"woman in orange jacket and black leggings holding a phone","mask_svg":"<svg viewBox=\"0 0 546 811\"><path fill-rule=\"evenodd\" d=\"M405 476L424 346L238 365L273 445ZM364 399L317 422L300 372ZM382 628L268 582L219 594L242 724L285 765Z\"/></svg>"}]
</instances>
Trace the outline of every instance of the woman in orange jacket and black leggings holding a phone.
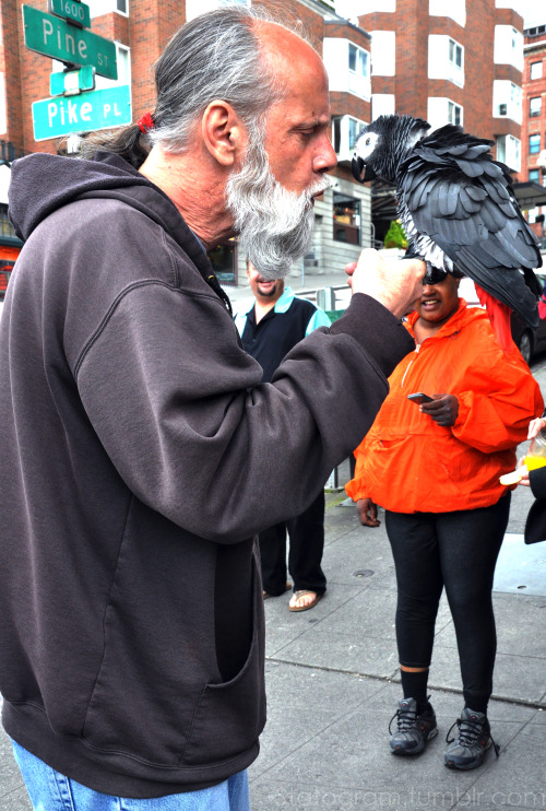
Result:
<instances>
[{"instance_id":1,"label":"woman in orange jacket and black leggings holding a phone","mask_svg":"<svg viewBox=\"0 0 546 811\"><path fill-rule=\"evenodd\" d=\"M437 277L438 278L438 277ZM407 328L416 348L396 366L377 419L355 451L346 490L360 522L385 509L397 581L396 643L404 697L394 754L417 754L437 732L427 697L435 622L446 588L455 627L464 708L444 755L451 768L475 768L491 745L487 704L496 655L491 590L508 524L510 491L529 421L542 413L538 385L513 346L496 342L487 314L458 296L440 271L424 284ZM422 398L408 395L422 392Z\"/></svg>"}]
</instances>

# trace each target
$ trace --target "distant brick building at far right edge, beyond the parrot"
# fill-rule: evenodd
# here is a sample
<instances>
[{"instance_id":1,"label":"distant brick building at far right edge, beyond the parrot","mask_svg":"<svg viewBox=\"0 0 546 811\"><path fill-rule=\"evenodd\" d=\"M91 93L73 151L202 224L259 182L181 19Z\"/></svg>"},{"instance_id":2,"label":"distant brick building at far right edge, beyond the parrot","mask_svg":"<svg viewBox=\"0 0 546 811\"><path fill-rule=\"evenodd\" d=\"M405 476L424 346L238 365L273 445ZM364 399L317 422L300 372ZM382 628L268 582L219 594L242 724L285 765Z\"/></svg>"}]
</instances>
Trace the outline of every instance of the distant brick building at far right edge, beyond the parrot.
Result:
<instances>
[{"instance_id":1,"label":"distant brick building at far right edge, beyond the parrot","mask_svg":"<svg viewBox=\"0 0 546 811\"><path fill-rule=\"evenodd\" d=\"M527 220L543 248L546 247L546 11L544 22L544 25L524 31L522 158L519 175L519 180L529 188Z\"/></svg>"}]
</instances>

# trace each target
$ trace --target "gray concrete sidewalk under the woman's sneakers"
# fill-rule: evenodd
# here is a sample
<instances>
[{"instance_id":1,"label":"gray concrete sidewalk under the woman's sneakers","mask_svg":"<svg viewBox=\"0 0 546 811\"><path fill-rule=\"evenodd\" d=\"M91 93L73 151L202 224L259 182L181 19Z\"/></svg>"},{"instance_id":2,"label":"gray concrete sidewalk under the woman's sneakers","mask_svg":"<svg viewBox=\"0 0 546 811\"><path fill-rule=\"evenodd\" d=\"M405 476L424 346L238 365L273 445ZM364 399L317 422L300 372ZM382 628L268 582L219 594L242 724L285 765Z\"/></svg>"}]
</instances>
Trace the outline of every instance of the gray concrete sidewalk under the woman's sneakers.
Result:
<instances>
[{"instance_id":1,"label":"gray concrete sidewalk under the woman's sneakers","mask_svg":"<svg viewBox=\"0 0 546 811\"><path fill-rule=\"evenodd\" d=\"M534 374L545 392L546 366ZM514 492L495 580L489 717L500 756L489 751L466 773L443 765L446 733L463 707L444 602L430 670L439 734L416 759L390 753L389 720L402 695L392 557L384 522L360 527L343 498L328 497L324 599L302 613L288 611L289 593L265 603L269 720L249 773L252 811L546 809L546 544L525 546L521 537L531 493ZM29 810L2 731L0 811Z\"/></svg>"}]
</instances>

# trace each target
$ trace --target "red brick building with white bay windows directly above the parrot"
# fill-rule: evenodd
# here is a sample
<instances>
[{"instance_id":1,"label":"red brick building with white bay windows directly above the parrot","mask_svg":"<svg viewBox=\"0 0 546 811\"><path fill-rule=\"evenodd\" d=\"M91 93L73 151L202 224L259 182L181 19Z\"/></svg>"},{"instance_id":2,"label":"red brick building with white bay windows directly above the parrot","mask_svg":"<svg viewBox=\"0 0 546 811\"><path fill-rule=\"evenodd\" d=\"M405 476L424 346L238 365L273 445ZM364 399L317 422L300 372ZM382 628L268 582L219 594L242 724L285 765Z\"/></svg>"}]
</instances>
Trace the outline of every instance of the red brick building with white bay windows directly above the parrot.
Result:
<instances>
[{"instance_id":1,"label":"red brick building with white bay windows directly above the parrot","mask_svg":"<svg viewBox=\"0 0 546 811\"><path fill-rule=\"evenodd\" d=\"M347 8L342 3L339 11ZM518 172L523 19L511 5L510 0L355 0L358 23L371 35L372 118L405 113L425 118L432 129L462 125L494 140L498 158ZM381 187L375 189L378 236L393 214L384 197Z\"/></svg>"}]
</instances>

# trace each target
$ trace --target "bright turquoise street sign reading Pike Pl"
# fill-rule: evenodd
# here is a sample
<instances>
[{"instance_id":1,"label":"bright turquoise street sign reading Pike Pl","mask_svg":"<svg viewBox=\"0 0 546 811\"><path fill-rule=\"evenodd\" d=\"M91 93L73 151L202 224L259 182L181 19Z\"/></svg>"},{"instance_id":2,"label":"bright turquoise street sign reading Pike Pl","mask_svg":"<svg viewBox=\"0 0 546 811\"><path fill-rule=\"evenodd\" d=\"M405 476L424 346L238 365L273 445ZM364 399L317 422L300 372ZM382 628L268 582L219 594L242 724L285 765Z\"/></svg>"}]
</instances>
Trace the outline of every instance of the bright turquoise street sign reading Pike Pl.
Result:
<instances>
[{"instance_id":1,"label":"bright turquoise street sign reading Pike Pl","mask_svg":"<svg viewBox=\"0 0 546 811\"><path fill-rule=\"evenodd\" d=\"M33 124L35 141L131 124L129 85L119 84L79 96L59 96L35 102Z\"/></svg>"}]
</instances>

